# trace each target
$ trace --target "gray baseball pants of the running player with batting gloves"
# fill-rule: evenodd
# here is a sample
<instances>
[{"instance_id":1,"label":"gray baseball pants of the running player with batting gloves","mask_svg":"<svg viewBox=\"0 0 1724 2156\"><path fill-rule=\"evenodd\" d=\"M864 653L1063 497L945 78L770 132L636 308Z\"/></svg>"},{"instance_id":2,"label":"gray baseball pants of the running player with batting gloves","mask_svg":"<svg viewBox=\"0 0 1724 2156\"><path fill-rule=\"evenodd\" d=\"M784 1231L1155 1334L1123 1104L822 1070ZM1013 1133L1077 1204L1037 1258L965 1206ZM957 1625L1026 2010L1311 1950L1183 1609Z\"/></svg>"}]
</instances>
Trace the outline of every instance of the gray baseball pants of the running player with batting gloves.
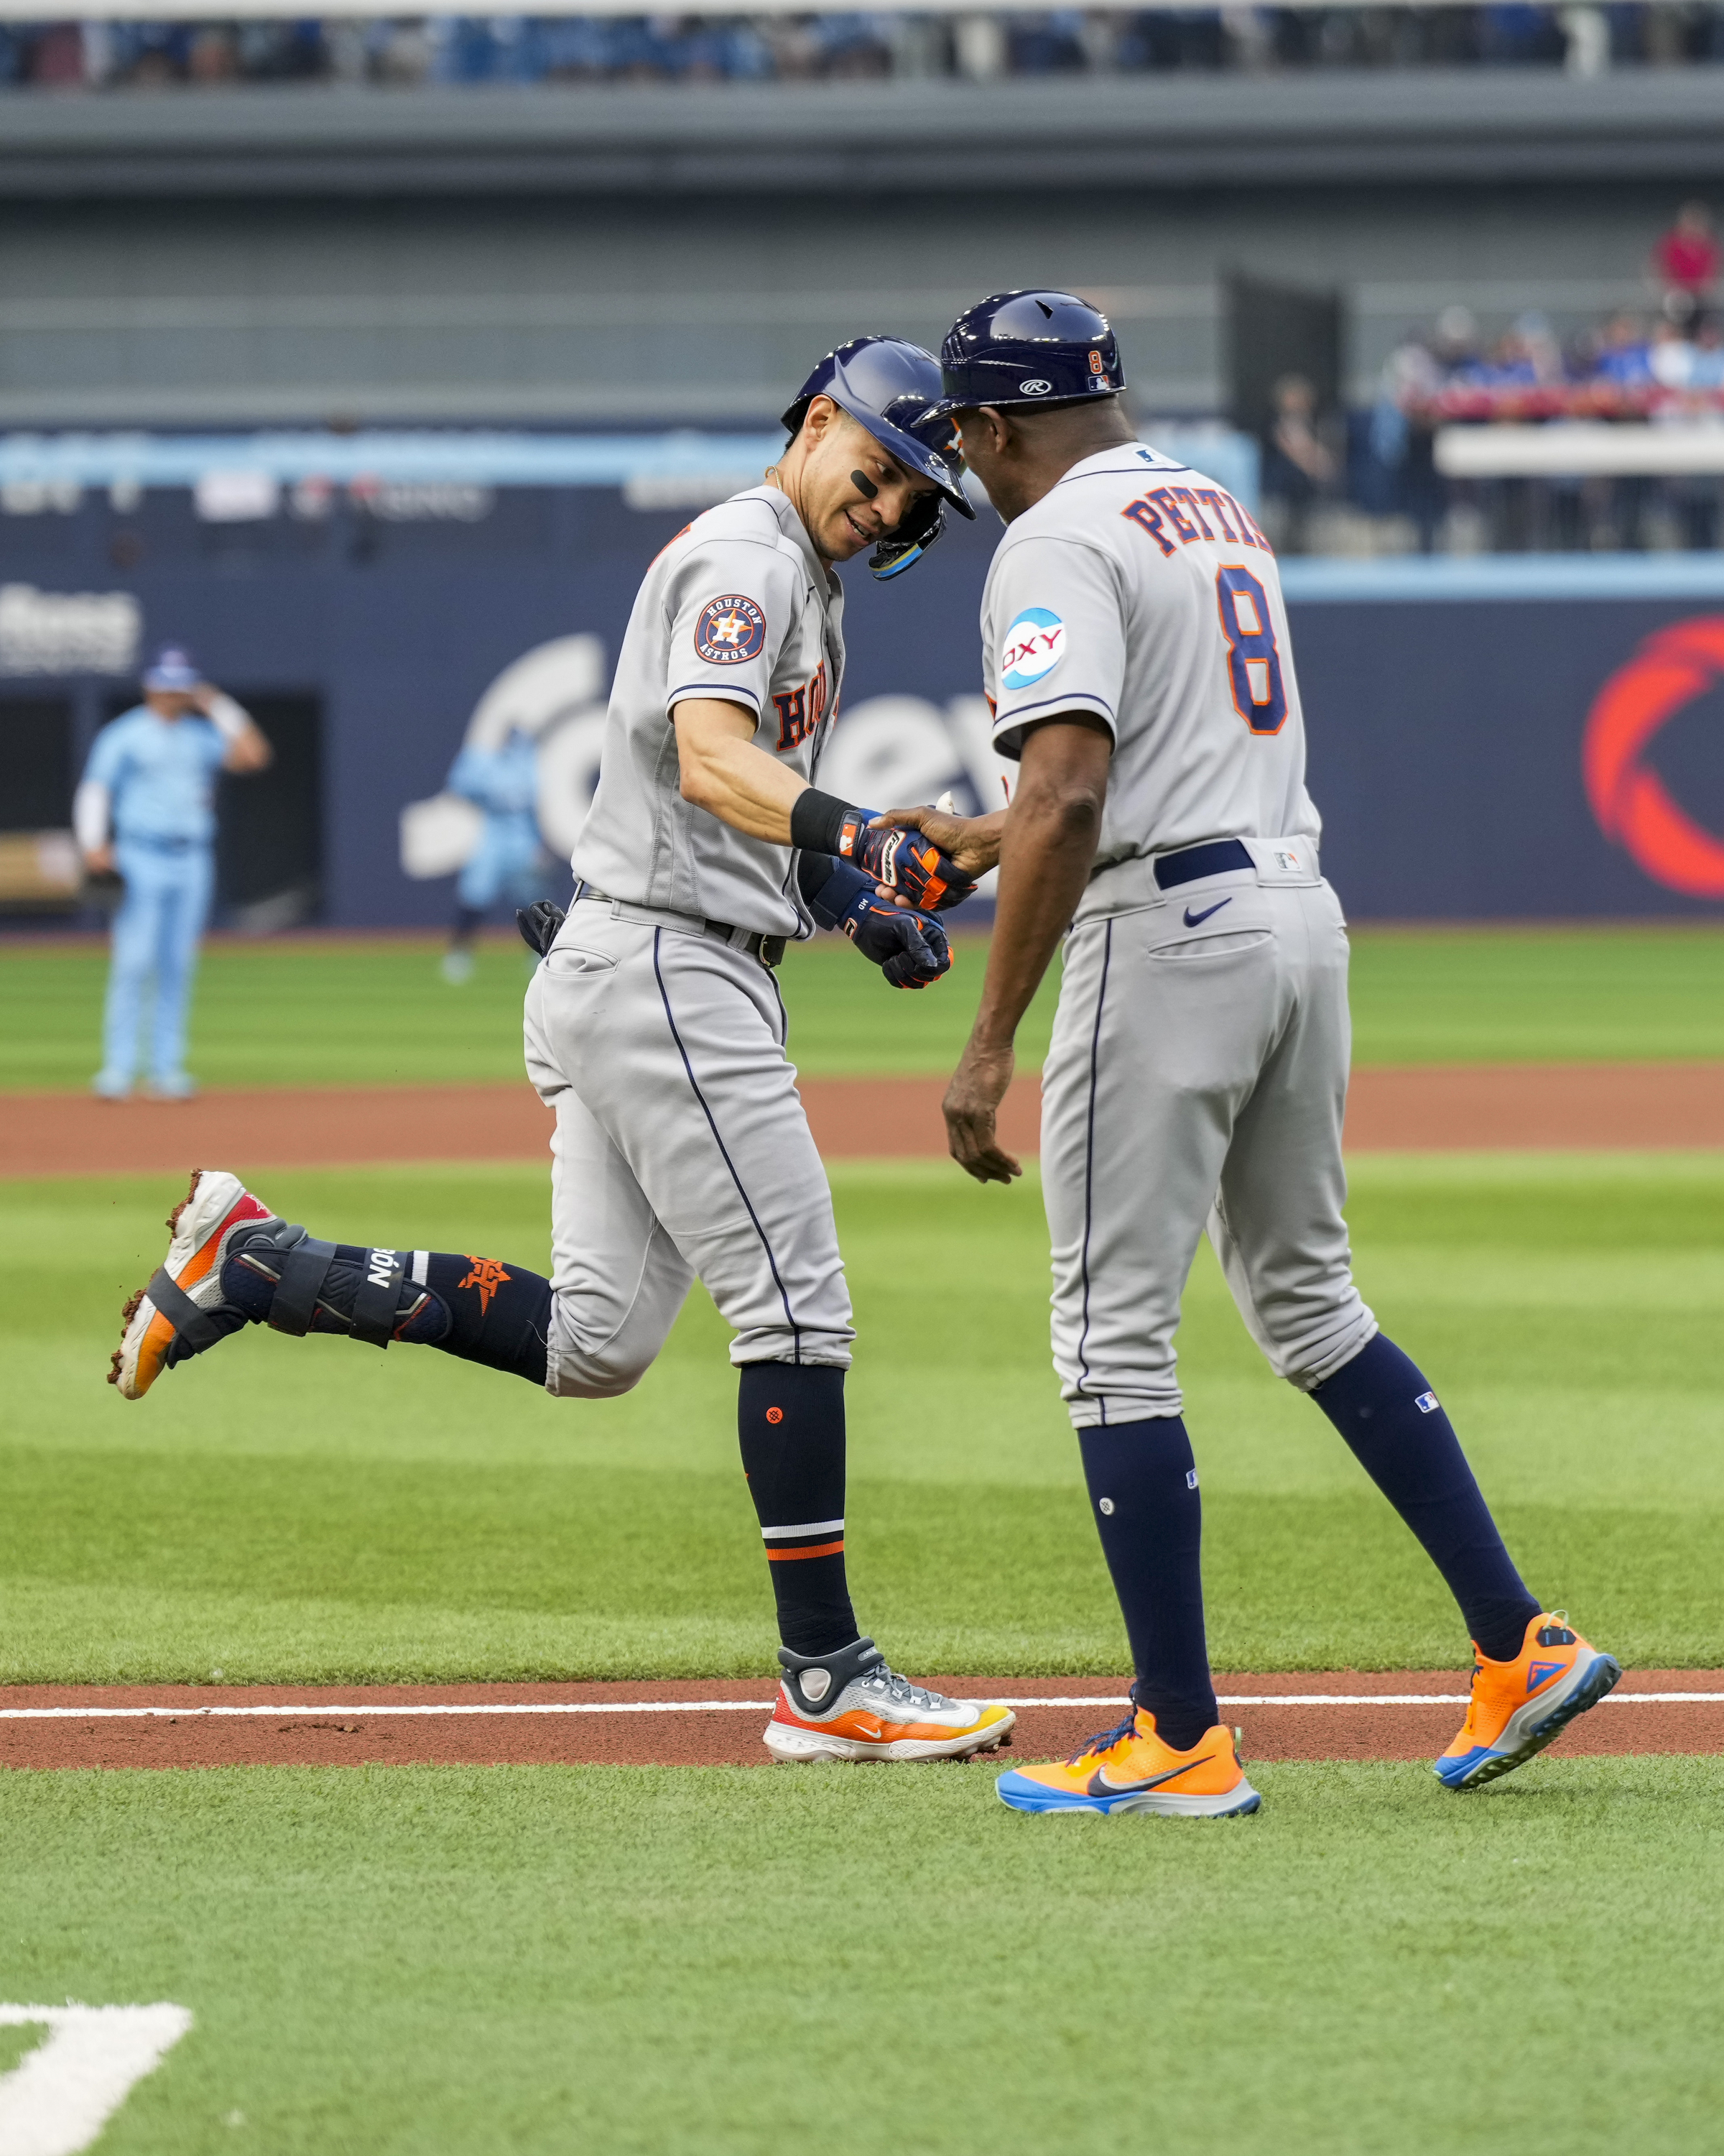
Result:
<instances>
[{"instance_id":1,"label":"gray baseball pants of the running player with batting gloves","mask_svg":"<svg viewBox=\"0 0 1724 2156\"><path fill-rule=\"evenodd\" d=\"M582 901L526 994L556 1108L545 1391L640 1382L700 1279L733 1363L849 1367L832 1190L771 972L685 914Z\"/></svg>"}]
</instances>

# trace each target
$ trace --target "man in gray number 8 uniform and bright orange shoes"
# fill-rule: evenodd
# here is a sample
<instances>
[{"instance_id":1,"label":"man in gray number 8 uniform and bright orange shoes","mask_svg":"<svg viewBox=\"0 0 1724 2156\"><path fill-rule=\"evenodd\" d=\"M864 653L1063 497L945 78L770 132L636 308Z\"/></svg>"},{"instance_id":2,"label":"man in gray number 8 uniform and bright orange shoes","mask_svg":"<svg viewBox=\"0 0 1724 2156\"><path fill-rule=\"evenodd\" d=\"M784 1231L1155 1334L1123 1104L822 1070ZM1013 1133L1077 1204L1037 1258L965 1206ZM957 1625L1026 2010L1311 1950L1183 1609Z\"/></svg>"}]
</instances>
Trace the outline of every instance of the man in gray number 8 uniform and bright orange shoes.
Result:
<instances>
[{"instance_id":1,"label":"man in gray number 8 uniform and bright orange shoes","mask_svg":"<svg viewBox=\"0 0 1724 2156\"><path fill-rule=\"evenodd\" d=\"M1103 315L1000 293L946 338L961 451L1006 522L983 595L1009 811L912 811L1000 865L987 981L946 1093L953 1156L1017 1162L993 1117L1013 1033L1065 938L1043 1069L1054 1367L1125 1613L1136 1712L1065 1766L1004 1774L1021 1811L1256 1811L1215 1714L1200 1498L1174 1378L1198 1235L1278 1376L1310 1393L1442 1572L1474 1641L1437 1761L1521 1766L1621 1669L1521 1585L1437 1395L1353 1287L1343 1220L1347 931L1319 871L1276 558L1224 487L1136 440Z\"/></svg>"}]
</instances>

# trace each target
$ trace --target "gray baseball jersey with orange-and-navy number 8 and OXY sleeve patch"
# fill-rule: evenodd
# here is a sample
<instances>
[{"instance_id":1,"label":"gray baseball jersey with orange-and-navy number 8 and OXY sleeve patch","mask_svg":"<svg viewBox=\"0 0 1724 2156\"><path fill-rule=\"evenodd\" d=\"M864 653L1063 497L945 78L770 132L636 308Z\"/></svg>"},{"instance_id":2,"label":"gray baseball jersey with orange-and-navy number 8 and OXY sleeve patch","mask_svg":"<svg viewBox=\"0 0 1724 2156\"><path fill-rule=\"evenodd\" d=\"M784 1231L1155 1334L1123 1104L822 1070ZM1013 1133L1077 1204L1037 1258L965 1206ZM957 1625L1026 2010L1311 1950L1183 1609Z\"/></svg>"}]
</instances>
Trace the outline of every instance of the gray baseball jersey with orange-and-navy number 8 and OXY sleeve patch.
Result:
<instances>
[{"instance_id":1,"label":"gray baseball jersey with orange-and-navy number 8 and OXY sleeve patch","mask_svg":"<svg viewBox=\"0 0 1724 2156\"><path fill-rule=\"evenodd\" d=\"M1075 464L1000 541L983 593L993 746L1088 711L1114 735L1097 867L1198 839L1319 834L1269 543L1142 444Z\"/></svg>"}]
</instances>

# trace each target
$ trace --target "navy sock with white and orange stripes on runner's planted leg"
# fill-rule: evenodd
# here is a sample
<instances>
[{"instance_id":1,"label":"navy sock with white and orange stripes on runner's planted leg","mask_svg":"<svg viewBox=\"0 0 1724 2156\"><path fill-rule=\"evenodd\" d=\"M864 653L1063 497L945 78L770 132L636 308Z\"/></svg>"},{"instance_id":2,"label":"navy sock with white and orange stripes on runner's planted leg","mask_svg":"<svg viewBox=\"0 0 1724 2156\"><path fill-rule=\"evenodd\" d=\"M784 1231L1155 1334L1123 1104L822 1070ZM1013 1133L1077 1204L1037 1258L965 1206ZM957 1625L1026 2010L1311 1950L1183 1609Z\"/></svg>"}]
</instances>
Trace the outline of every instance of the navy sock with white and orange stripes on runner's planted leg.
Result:
<instances>
[{"instance_id":1,"label":"navy sock with white and orange stripes on runner's planted leg","mask_svg":"<svg viewBox=\"0 0 1724 2156\"><path fill-rule=\"evenodd\" d=\"M748 1494L793 1654L858 1636L845 1583L845 1373L821 1363L743 1363L737 1436Z\"/></svg>"}]
</instances>

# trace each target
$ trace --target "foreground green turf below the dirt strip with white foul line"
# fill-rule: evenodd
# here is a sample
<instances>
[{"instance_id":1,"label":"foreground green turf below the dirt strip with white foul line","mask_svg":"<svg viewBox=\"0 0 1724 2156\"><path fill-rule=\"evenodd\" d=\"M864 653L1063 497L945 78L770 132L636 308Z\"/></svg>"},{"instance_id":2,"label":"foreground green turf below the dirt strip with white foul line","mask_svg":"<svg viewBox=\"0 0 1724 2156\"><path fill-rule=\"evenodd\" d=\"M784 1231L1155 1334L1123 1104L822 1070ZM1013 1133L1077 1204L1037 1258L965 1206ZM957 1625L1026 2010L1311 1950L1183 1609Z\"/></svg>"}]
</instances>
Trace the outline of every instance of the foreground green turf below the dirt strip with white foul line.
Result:
<instances>
[{"instance_id":1,"label":"foreground green turf below the dirt strip with white foul line","mask_svg":"<svg viewBox=\"0 0 1724 2156\"><path fill-rule=\"evenodd\" d=\"M0 1994L194 2012L106 2156L1718 2147L1722 1761L1256 1779L13 1774Z\"/></svg>"}]
</instances>

